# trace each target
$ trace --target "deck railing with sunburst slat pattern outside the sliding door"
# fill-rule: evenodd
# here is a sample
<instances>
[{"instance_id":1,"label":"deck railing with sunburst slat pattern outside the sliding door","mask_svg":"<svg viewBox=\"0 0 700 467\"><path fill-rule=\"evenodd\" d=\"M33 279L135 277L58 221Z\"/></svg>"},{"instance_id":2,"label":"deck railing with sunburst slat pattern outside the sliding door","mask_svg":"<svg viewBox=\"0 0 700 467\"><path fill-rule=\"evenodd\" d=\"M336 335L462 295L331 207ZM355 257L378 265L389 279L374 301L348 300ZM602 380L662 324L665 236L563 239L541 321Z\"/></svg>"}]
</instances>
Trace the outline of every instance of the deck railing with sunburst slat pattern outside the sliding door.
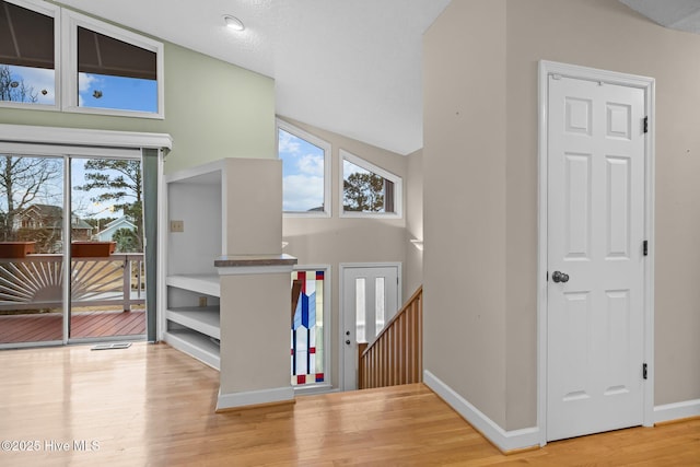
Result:
<instances>
[{"instance_id":1,"label":"deck railing with sunburst slat pattern outside the sliding door","mask_svg":"<svg viewBox=\"0 0 700 467\"><path fill-rule=\"evenodd\" d=\"M0 259L0 311L62 307L63 255ZM145 303L143 254L71 259L71 306Z\"/></svg>"}]
</instances>

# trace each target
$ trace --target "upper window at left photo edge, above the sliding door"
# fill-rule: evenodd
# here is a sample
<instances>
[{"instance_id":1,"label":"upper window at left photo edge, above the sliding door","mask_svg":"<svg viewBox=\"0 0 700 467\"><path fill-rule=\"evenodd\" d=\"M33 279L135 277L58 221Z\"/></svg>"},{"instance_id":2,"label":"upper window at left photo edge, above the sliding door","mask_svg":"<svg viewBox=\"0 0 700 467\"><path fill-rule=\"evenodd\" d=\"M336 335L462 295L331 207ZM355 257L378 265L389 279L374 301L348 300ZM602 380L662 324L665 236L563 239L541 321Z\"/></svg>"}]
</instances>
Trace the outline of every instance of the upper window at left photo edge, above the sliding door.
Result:
<instances>
[{"instance_id":1,"label":"upper window at left photo edge, above the sliding door","mask_svg":"<svg viewBox=\"0 0 700 467\"><path fill-rule=\"evenodd\" d=\"M56 106L59 9L0 0L0 102Z\"/></svg>"}]
</instances>

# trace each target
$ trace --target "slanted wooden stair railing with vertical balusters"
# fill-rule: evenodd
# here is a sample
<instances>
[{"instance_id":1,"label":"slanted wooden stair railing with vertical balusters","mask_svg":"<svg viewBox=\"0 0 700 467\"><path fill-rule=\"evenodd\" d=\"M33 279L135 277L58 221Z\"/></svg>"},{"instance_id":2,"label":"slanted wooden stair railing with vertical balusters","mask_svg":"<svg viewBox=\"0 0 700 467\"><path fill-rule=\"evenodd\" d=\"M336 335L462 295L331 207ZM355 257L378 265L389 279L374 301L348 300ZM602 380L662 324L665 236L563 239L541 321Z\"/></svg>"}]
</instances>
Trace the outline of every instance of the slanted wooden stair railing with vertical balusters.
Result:
<instances>
[{"instance_id":1,"label":"slanted wooden stair railing with vertical balusters","mask_svg":"<svg viewBox=\"0 0 700 467\"><path fill-rule=\"evenodd\" d=\"M422 382L423 288L418 288L366 349L359 349L360 389Z\"/></svg>"}]
</instances>

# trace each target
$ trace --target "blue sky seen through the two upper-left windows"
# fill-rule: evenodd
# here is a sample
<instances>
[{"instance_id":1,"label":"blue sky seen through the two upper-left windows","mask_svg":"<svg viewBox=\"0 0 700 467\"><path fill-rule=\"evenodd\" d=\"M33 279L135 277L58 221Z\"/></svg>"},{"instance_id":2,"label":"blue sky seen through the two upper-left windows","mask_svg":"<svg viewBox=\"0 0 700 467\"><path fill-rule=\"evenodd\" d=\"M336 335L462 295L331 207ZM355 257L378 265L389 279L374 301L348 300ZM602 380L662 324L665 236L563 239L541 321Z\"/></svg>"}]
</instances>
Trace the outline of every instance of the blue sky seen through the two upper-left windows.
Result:
<instances>
[{"instance_id":1,"label":"blue sky seen through the two upper-left windows","mask_svg":"<svg viewBox=\"0 0 700 467\"><path fill-rule=\"evenodd\" d=\"M11 66L10 71L15 81L23 79L27 86L34 89L37 103L55 104L54 70ZM80 107L158 112L158 84L154 80L78 73L78 90ZM100 97L95 96L95 92Z\"/></svg>"}]
</instances>

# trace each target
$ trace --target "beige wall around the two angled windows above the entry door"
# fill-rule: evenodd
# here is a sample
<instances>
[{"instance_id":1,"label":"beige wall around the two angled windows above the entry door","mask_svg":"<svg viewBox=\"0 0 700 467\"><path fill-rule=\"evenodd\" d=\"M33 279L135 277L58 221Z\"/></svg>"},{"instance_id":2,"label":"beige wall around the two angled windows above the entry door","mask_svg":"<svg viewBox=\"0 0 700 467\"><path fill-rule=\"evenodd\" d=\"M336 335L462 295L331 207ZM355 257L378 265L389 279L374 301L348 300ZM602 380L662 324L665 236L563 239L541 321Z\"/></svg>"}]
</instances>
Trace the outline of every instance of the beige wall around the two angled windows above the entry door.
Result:
<instances>
[{"instance_id":1,"label":"beige wall around the two angled windows above the entry door","mask_svg":"<svg viewBox=\"0 0 700 467\"><path fill-rule=\"evenodd\" d=\"M342 262L401 262L408 243L406 237L406 215L404 219L349 219L339 218L339 150L346 150L404 179L404 211L406 212L406 156L386 151L343 136L315 128L300 121L283 118L302 130L329 142L332 147L331 166L331 218L300 219L284 218L282 236L289 245L283 253L299 258L299 266L330 265L331 267L331 336L334 386L338 385L340 369L338 341L340 332L339 265ZM404 271L406 273L406 271ZM415 273L413 273L415 275ZM404 281L406 282L406 281ZM412 290L404 290L402 300Z\"/></svg>"}]
</instances>

